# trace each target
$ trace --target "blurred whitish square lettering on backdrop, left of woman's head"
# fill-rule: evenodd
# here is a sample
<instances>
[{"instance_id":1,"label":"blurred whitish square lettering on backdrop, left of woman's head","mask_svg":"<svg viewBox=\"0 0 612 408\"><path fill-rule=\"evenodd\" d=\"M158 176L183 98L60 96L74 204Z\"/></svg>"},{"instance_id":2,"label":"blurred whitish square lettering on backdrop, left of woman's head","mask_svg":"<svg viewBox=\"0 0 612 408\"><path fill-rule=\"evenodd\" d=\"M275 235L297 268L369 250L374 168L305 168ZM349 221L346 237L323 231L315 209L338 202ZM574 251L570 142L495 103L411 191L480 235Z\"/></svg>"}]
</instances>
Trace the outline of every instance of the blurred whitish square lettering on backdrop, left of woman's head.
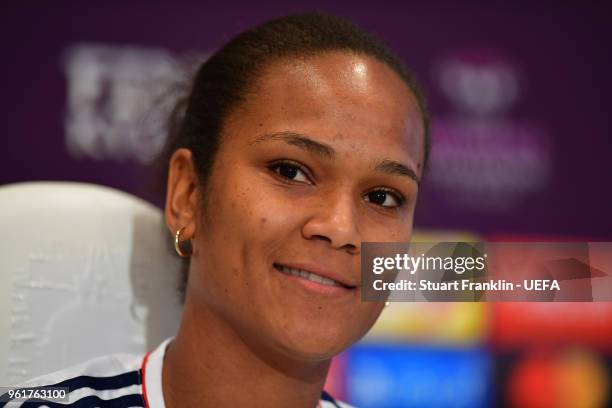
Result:
<instances>
[{"instance_id":1,"label":"blurred whitish square lettering on backdrop, left of woman's head","mask_svg":"<svg viewBox=\"0 0 612 408\"><path fill-rule=\"evenodd\" d=\"M78 45L69 49L66 145L73 157L150 162L188 74L159 49Z\"/></svg>"}]
</instances>

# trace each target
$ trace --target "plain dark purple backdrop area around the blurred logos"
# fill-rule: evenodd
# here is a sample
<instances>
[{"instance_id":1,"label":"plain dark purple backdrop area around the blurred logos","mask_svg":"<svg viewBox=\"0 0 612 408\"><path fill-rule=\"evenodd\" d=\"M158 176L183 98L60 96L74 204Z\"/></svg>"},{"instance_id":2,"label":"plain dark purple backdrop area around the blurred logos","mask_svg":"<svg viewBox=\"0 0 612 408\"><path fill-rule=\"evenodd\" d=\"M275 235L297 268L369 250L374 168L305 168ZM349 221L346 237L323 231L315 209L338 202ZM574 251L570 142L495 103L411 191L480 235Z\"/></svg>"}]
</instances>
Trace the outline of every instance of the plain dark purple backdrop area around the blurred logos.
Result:
<instances>
[{"instance_id":1,"label":"plain dark purple backdrop area around the blurred logos","mask_svg":"<svg viewBox=\"0 0 612 408\"><path fill-rule=\"evenodd\" d=\"M441 153L434 151L417 226L612 235L612 14L603 2L14 3L0 15L1 184L78 180L159 202L137 161L69 153L68 50L97 44L210 52L268 18L319 9L378 33L423 84ZM486 135L474 136L480 131ZM436 164L444 169L437 175Z\"/></svg>"}]
</instances>

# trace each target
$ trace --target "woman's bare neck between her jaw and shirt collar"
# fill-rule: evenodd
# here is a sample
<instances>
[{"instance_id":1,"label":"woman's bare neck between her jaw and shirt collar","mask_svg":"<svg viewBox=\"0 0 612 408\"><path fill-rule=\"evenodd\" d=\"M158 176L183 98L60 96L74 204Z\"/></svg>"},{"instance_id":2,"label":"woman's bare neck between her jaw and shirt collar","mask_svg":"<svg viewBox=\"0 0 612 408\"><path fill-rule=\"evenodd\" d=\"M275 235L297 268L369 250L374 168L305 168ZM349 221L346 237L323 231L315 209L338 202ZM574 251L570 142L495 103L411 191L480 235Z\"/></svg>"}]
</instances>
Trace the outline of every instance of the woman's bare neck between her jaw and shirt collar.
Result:
<instances>
[{"instance_id":1,"label":"woman's bare neck between her jaw and shirt collar","mask_svg":"<svg viewBox=\"0 0 612 408\"><path fill-rule=\"evenodd\" d=\"M167 408L317 406L329 360L295 361L266 352L203 309L196 312L186 299L179 332L166 351L162 386Z\"/></svg>"}]
</instances>

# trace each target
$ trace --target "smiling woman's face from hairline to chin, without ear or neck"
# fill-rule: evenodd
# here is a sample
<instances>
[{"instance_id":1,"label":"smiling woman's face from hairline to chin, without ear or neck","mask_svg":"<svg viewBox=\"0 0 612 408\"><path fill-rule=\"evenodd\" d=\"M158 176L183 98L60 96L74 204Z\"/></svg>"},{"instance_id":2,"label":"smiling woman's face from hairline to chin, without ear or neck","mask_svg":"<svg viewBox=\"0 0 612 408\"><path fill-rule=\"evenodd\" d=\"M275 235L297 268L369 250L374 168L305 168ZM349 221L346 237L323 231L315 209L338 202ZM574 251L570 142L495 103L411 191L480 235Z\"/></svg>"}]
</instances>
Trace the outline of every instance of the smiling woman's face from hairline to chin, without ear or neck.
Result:
<instances>
[{"instance_id":1,"label":"smiling woman's face from hairline to chin, without ear or neck","mask_svg":"<svg viewBox=\"0 0 612 408\"><path fill-rule=\"evenodd\" d=\"M410 239L423 137L413 94L375 59L268 67L225 124L198 207L196 313L299 360L361 338L383 305L360 301L360 243Z\"/></svg>"}]
</instances>

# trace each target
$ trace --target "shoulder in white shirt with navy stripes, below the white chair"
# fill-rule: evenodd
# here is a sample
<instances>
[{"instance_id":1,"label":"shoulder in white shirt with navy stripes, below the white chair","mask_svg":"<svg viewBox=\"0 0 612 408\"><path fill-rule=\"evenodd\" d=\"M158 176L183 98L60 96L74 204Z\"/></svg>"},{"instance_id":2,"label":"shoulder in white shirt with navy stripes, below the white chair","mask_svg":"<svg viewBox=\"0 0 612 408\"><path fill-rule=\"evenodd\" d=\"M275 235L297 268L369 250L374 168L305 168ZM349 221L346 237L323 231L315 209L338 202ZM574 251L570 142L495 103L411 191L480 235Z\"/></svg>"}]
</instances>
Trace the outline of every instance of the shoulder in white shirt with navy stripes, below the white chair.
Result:
<instances>
[{"instance_id":1,"label":"shoulder in white shirt with navy stripes, below the white chair","mask_svg":"<svg viewBox=\"0 0 612 408\"><path fill-rule=\"evenodd\" d=\"M100 400L112 402L112 406L117 407L143 406L141 362L141 356L129 354L102 356L33 378L15 387L65 388L70 403L79 401L87 406L94 406Z\"/></svg>"}]
</instances>

